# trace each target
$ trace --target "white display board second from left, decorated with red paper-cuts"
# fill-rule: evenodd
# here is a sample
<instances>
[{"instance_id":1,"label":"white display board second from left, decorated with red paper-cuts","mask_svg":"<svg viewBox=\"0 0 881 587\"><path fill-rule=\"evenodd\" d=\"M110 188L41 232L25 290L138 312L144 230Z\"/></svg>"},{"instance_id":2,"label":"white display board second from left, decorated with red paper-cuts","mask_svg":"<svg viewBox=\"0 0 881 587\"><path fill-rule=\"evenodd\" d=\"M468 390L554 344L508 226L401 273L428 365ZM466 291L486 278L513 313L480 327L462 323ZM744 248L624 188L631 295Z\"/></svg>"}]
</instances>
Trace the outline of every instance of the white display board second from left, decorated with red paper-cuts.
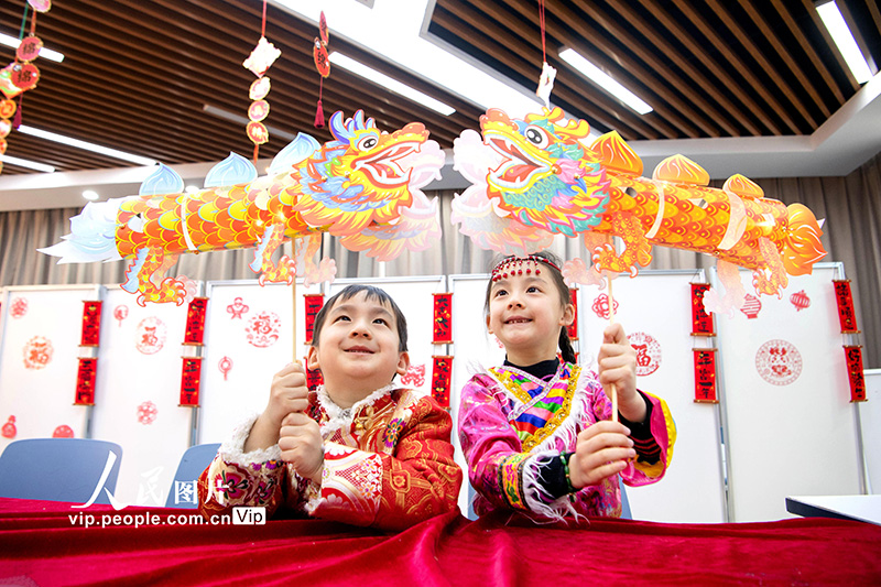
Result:
<instances>
[{"instance_id":1,"label":"white display board second from left, decorated with red paper-cuts","mask_svg":"<svg viewBox=\"0 0 881 587\"><path fill-rule=\"evenodd\" d=\"M189 446L193 409L180 405L187 305L141 307L118 286L105 290L91 436L122 447L115 496L164 506Z\"/></svg>"}]
</instances>

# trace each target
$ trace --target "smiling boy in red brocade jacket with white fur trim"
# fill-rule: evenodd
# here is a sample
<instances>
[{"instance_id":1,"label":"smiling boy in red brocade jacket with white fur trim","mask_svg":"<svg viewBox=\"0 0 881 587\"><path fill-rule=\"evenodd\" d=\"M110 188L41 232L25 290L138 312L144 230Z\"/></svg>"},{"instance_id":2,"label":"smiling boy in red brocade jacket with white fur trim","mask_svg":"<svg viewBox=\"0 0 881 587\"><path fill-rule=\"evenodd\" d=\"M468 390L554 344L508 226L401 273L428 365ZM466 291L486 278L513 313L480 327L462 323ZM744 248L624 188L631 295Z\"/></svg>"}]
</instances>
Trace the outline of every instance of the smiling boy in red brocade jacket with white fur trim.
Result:
<instances>
[{"instance_id":1,"label":"smiling boy in red brocade jacket with white fur trim","mask_svg":"<svg viewBox=\"0 0 881 587\"><path fill-rule=\"evenodd\" d=\"M349 285L315 318L306 388L279 371L262 414L239 426L199 478L207 518L235 506L280 506L323 520L400 531L455 509L461 469L452 420L434 399L392 383L410 366L406 320L384 291Z\"/></svg>"}]
</instances>

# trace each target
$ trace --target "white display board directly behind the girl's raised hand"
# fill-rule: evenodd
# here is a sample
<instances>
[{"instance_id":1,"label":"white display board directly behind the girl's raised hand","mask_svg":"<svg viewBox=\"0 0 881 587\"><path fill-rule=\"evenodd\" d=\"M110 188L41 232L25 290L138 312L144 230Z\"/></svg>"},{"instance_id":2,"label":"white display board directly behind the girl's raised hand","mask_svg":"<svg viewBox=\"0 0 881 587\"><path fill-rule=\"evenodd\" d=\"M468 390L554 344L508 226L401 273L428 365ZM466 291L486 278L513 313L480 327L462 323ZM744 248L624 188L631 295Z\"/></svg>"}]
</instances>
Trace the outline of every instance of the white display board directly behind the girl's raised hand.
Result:
<instances>
[{"instance_id":1,"label":"white display board directly behind the girl's raised hand","mask_svg":"<svg viewBox=\"0 0 881 587\"><path fill-rule=\"evenodd\" d=\"M673 459L656 483L628 487L634 520L710 523L726 521L719 406L695 403L694 348L713 345L692 336L692 283L703 271L642 271L612 282L614 320L638 351L637 387L666 401L676 423ZM578 290L579 361L597 370L608 327L608 291ZM595 309L596 308L596 309Z\"/></svg>"}]
</instances>

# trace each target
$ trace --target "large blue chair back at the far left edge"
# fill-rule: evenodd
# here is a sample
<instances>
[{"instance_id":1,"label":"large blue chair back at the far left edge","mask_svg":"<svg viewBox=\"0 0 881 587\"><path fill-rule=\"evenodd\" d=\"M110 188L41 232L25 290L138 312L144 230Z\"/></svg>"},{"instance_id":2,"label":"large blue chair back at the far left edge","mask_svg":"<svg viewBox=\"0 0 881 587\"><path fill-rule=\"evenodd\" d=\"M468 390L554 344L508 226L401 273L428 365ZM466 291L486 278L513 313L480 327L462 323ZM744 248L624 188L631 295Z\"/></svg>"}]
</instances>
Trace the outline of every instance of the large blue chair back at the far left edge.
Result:
<instances>
[{"instance_id":1,"label":"large blue chair back at the far left edge","mask_svg":"<svg viewBox=\"0 0 881 587\"><path fill-rule=\"evenodd\" d=\"M121 460L122 447L107 441L15 441L0 455L0 497L110 503Z\"/></svg>"}]
</instances>

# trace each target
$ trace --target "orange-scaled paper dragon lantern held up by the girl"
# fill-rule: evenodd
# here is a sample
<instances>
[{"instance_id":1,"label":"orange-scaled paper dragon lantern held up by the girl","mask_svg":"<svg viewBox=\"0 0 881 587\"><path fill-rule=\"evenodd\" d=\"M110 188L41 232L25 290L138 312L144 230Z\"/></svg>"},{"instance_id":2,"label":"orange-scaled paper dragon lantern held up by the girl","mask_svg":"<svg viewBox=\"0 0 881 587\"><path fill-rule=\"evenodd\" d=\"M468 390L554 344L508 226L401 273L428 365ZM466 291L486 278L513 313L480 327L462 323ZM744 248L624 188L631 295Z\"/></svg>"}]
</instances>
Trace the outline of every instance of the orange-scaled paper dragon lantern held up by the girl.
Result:
<instances>
[{"instance_id":1,"label":"orange-scaled paper dragon lantern held up by the girl","mask_svg":"<svg viewBox=\"0 0 881 587\"><path fill-rule=\"evenodd\" d=\"M674 247L751 269L755 292L766 295L826 256L805 206L764 198L739 174L708 187L707 172L682 155L641 177L642 161L617 132L588 148L588 123L559 108L522 119L491 108L480 129L482 137L469 129L454 143L455 167L472 185L456 195L450 218L481 248L527 254L554 235L583 236L594 271L635 276L653 246ZM619 237L624 249L595 233Z\"/></svg>"}]
</instances>

